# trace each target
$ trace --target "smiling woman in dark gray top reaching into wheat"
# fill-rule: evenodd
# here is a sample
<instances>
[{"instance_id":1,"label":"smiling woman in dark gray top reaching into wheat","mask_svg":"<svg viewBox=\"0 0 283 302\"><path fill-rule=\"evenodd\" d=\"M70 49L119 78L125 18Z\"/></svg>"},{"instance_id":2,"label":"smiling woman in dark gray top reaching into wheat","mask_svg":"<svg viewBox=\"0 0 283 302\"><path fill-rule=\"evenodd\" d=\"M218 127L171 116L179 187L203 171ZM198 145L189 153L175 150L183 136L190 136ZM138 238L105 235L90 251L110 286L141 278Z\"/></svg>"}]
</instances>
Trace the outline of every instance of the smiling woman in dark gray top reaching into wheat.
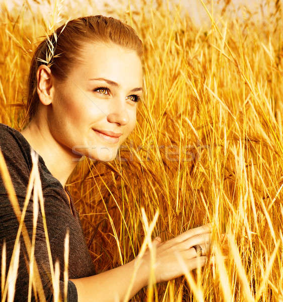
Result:
<instances>
[{"instance_id":1,"label":"smiling woman in dark gray top reaching into wheat","mask_svg":"<svg viewBox=\"0 0 283 302\"><path fill-rule=\"evenodd\" d=\"M1 124L4 154L21 208L32 168L31 148L39 155L39 173L52 260L60 263L63 297L64 238L69 231L68 301L123 300L134 270L131 262L95 274L78 211L65 183L82 156L111 161L133 130L136 109L143 92L142 42L134 30L119 20L90 16L72 20L56 30L36 49L28 80L29 124L21 132ZM48 44L51 55L46 56ZM50 44L52 43L52 45ZM50 46L51 45L51 46ZM54 47L54 50L53 48ZM52 53L53 52L53 53ZM49 52L50 54L50 52ZM46 60L46 57L48 60ZM17 219L0 187L0 244L6 241L7 263L17 234ZM31 198L32 200L32 198ZM33 206L29 203L25 224L32 234ZM35 259L46 300L52 300L50 265L43 218L38 217ZM156 281L182 275L176 252L192 270L206 261L210 225L189 230L167 242L156 238ZM199 256L199 257L198 257ZM15 300L26 301L29 274L27 253L21 241ZM8 268L7 268L8 269ZM130 296L148 284L150 252L134 279ZM34 297L36 288L33 287Z\"/></svg>"}]
</instances>

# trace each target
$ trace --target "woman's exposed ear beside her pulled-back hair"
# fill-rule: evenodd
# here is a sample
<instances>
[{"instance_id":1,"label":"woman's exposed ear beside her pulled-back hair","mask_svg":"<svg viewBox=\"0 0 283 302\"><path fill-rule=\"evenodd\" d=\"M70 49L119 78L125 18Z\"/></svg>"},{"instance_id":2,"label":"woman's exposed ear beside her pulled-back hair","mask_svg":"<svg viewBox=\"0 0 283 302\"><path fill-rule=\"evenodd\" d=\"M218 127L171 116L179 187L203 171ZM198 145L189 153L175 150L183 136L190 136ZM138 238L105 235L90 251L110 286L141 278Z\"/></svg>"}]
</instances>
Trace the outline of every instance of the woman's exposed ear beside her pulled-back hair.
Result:
<instances>
[{"instance_id":1,"label":"woman's exposed ear beside her pulled-back hair","mask_svg":"<svg viewBox=\"0 0 283 302\"><path fill-rule=\"evenodd\" d=\"M51 70L46 65L40 65L36 72L37 94L43 105L52 103L53 98L53 77Z\"/></svg>"}]
</instances>

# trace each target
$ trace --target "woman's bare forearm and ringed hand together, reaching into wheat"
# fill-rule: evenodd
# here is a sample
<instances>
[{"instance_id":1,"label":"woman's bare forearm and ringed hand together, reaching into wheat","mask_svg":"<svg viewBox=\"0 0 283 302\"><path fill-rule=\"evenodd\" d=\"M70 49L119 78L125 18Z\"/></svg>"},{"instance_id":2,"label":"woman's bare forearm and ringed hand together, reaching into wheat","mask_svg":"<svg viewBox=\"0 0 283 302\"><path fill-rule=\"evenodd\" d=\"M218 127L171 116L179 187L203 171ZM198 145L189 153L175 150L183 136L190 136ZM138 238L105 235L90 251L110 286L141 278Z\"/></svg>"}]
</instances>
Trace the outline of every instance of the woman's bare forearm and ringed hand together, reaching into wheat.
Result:
<instances>
[{"instance_id":1,"label":"woman's bare forearm and ringed hand together, reaching into wheat","mask_svg":"<svg viewBox=\"0 0 283 302\"><path fill-rule=\"evenodd\" d=\"M198 264L203 266L206 261L206 256L204 256L206 255L206 246L210 242L210 229L211 225L206 224L186 231L164 243L158 238L155 239L153 247L156 248L156 261L154 264L156 282L168 281L184 274L183 267L180 266L176 253L186 261L188 270L195 269ZM201 245L203 250L203 255L199 259L197 259L196 251L193 248L196 244ZM150 257L148 249L143 255L142 262L136 273L129 298L148 284ZM123 301L136 261L137 258L125 265L94 276L70 279L77 287L78 302Z\"/></svg>"}]
</instances>

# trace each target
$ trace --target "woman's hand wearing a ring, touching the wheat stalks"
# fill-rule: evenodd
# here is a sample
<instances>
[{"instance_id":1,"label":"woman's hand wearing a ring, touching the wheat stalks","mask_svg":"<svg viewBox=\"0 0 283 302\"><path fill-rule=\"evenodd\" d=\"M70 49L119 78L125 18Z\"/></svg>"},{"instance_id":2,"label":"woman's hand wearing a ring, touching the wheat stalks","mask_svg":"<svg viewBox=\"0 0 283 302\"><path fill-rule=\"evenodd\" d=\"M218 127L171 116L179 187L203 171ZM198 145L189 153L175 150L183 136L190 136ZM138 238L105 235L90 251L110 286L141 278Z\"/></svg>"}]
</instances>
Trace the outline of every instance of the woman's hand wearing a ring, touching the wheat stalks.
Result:
<instances>
[{"instance_id":1,"label":"woman's hand wearing a ring, touching the wheat stalks","mask_svg":"<svg viewBox=\"0 0 283 302\"><path fill-rule=\"evenodd\" d=\"M162 242L159 237L155 238L153 247L156 249L154 268L157 283L168 281L184 274L184 269L178 261L177 254L182 257L189 271L197 268L198 265L204 266L210 242L210 223L188 230L166 242ZM201 256L197 256L196 250L193 248L195 245L200 245L202 249ZM149 271L151 265L150 254L151 252L148 249L143 256Z\"/></svg>"}]
</instances>

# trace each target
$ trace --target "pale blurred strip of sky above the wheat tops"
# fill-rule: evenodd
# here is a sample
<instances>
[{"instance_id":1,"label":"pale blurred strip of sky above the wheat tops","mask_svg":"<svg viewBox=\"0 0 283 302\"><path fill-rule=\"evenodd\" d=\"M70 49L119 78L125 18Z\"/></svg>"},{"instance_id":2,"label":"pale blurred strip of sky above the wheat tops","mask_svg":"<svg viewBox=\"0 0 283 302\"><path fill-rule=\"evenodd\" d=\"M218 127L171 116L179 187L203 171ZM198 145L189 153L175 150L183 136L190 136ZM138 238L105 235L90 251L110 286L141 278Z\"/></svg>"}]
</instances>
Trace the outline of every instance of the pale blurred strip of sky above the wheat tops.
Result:
<instances>
[{"instance_id":1,"label":"pale blurred strip of sky above the wheat tops","mask_svg":"<svg viewBox=\"0 0 283 302\"><path fill-rule=\"evenodd\" d=\"M277 2L281 2L282 0L278 0ZM73 14L102 14L102 15L115 15L115 11L127 11L129 9L129 5L132 10L139 11L143 6L148 7L152 6L154 9L156 6L160 5L163 2L169 10L173 10L173 8L177 5L182 7L180 11L180 15L184 16L188 14L192 19L193 23L198 26L209 25L209 18L201 5L199 0L160 0L160 1L149 1L149 0L64 0L57 1L57 3L63 4L65 9L72 10ZM214 18L217 21L221 14L223 14L223 10L227 8L228 11L232 11L235 15L235 18L239 17L243 20L247 18L262 19L265 18L265 15L270 13L270 10L274 7L274 1L259 1L259 0L213 0L206 1L204 0L207 8L214 12ZM19 9L23 5L27 4L25 0L1 0L0 3L6 3L9 11ZM33 8L33 10L44 11L50 4L54 4L53 1L28 1L29 5ZM87 10L86 10L86 7ZM62 8L64 11L64 8ZM74 11L73 11L74 10Z\"/></svg>"}]
</instances>

